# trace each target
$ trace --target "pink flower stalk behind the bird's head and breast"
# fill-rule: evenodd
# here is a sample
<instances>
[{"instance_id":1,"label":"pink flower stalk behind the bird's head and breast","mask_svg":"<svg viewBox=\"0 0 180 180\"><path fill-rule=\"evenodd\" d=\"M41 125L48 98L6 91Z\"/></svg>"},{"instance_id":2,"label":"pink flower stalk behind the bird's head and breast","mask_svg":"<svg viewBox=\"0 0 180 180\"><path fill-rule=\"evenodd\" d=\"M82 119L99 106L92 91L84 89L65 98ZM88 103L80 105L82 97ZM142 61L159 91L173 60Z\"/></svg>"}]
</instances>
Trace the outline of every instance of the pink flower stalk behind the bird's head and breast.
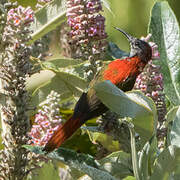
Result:
<instances>
[{"instance_id":1,"label":"pink flower stalk behind the bird's head and breast","mask_svg":"<svg viewBox=\"0 0 180 180\"><path fill-rule=\"evenodd\" d=\"M151 34L141 39L148 42L151 38ZM144 71L137 77L134 88L141 90L146 96L151 97L154 101L157 114L157 137L159 140L159 148L164 147L164 137L166 136L166 128L164 122L166 120L166 104L165 94L163 92L163 75L160 70L161 67L153 62L153 59L159 59L160 54L158 52L158 46L154 42L149 42L152 48L152 60L146 65Z\"/></svg>"}]
</instances>

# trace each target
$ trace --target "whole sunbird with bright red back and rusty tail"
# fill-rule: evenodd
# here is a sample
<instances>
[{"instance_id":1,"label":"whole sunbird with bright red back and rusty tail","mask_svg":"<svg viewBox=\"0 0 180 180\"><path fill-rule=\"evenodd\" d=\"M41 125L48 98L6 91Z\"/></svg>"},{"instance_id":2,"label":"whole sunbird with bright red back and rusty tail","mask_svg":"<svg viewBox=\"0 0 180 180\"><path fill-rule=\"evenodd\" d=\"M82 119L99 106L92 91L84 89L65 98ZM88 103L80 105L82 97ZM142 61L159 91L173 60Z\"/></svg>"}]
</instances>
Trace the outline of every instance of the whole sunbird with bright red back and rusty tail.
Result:
<instances>
[{"instance_id":1,"label":"whole sunbird with bright red back and rusty tail","mask_svg":"<svg viewBox=\"0 0 180 180\"><path fill-rule=\"evenodd\" d=\"M51 152L58 148L87 120L98 117L108 110L96 96L93 89L96 83L110 80L121 90L130 91L134 86L136 77L152 58L152 49L147 42L134 38L119 28L116 29L122 32L130 42L131 51L129 57L114 60L102 67L101 71L91 81L88 92L83 93L76 103L72 117L54 132L44 147L44 151Z\"/></svg>"}]
</instances>

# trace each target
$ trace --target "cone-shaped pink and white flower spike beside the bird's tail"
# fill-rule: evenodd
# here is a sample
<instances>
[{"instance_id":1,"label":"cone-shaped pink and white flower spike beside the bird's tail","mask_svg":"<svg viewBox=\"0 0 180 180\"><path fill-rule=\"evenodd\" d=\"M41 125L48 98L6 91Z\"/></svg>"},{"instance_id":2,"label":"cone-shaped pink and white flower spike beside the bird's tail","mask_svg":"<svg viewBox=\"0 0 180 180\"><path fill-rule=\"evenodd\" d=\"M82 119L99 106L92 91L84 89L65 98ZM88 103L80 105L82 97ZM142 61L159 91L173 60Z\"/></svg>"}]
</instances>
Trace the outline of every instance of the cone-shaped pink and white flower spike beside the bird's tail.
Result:
<instances>
[{"instance_id":1,"label":"cone-shaped pink and white flower spike beside the bird's tail","mask_svg":"<svg viewBox=\"0 0 180 180\"><path fill-rule=\"evenodd\" d=\"M52 91L47 100L40 104L41 109L35 115L35 124L29 132L30 144L44 146L61 125L62 117L59 114L58 101L59 95Z\"/></svg>"}]
</instances>

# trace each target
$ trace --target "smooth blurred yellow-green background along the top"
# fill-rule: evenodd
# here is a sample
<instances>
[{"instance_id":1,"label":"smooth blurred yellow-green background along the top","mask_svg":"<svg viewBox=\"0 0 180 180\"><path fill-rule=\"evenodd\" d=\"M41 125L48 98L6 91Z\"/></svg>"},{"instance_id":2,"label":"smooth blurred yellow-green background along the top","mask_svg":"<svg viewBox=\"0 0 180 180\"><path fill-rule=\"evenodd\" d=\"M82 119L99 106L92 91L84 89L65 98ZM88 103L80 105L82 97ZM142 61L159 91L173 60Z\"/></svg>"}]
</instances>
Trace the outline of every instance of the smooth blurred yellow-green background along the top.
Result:
<instances>
[{"instance_id":1,"label":"smooth blurred yellow-green background along the top","mask_svg":"<svg viewBox=\"0 0 180 180\"><path fill-rule=\"evenodd\" d=\"M16 0L12 0L16 1ZM32 7L37 0L17 0L21 5ZM107 9L103 12L106 17L106 32L108 40L115 42L121 49L128 51L127 40L116 31L113 26L120 27L128 33L136 36L146 36L150 12L153 4L158 0L105 0L109 1L112 13ZM180 22L180 0L168 0L178 21Z\"/></svg>"}]
</instances>

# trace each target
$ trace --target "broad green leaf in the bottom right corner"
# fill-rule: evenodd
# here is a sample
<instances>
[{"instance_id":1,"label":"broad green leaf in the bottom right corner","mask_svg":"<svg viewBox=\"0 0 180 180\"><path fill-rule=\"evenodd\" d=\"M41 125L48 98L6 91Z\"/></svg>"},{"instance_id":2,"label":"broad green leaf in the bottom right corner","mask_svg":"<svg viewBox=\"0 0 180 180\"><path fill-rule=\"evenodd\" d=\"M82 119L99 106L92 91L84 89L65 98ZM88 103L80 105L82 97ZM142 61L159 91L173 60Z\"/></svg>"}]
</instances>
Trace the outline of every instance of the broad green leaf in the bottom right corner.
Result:
<instances>
[{"instance_id":1,"label":"broad green leaf in the bottom right corner","mask_svg":"<svg viewBox=\"0 0 180 180\"><path fill-rule=\"evenodd\" d=\"M154 164L150 180L169 180L176 166L180 163L180 148L169 146L160 153Z\"/></svg>"}]
</instances>

